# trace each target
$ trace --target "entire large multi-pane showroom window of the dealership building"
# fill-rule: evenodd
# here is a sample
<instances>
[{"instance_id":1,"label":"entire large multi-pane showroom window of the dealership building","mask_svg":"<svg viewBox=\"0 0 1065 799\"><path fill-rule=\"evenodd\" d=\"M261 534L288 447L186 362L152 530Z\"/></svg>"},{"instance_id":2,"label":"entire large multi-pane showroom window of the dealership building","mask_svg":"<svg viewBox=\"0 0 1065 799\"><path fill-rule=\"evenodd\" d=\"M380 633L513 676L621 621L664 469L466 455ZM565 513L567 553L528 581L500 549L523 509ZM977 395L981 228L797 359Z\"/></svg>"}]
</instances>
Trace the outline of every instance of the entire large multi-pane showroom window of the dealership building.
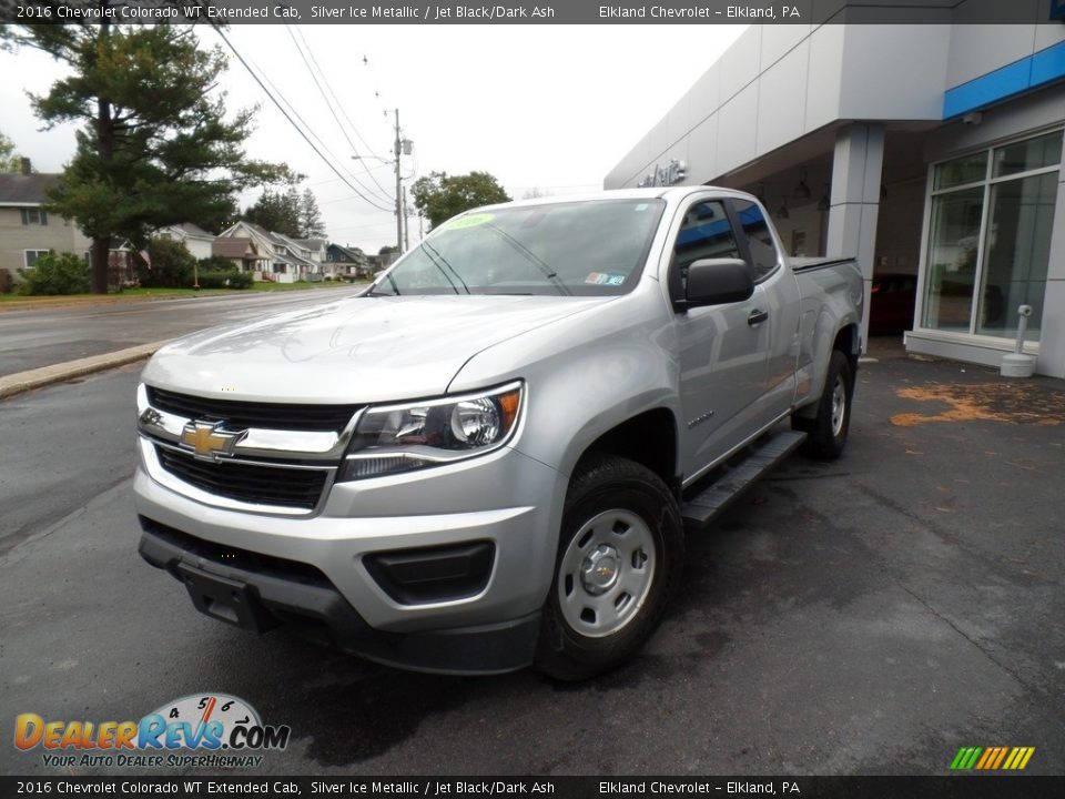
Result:
<instances>
[{"instance_id":1,"label":"entire large multi-pane showroom window of the dealership building","mask_svg":"<svg viewBox=\"0 0 1065 799\"><path fill-rule=\"evenodd\" d=\"M1038 340L1062 131L932 168L922 326Z\"/></svg>"}]
</instances>

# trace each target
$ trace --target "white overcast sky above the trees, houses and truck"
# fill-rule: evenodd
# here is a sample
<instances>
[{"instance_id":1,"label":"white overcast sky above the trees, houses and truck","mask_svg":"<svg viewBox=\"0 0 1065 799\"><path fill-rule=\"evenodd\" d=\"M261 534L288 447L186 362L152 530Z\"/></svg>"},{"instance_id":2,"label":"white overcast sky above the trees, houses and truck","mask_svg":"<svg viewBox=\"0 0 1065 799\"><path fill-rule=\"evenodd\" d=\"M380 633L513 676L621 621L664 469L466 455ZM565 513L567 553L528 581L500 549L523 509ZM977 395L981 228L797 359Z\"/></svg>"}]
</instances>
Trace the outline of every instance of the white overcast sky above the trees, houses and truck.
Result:
<instances>
[{"instance_id":1,"label":"white overcast sky above the trees, houses and truck","mask_svg":"<svg viewBox=\"0 0 1065 799\"><path fill-rule=\"evenodd\" d=\"M237 24L227 36L322 139L333 163L373 190L376 204L390 208L392 168L366 162L378 186L351 160L348 138L359 154L369 152L347 120L373 153L389 158L392 113L399 109L404 135L414 142L413 154L403 159L405 179L481 170L496 175L514 198L534 189L550 194L594 191L743 29ZM296 49L294 39L301 38L326 77L326 91L332 89L339 99L334 109L347 136ZM201 41L221 43L206 27ZM38 171L59 171L73 152L73 130L39 132L26 92L47 91L63 68L22 49L0 52L0 74L8 77L0 82L0 131ZM223 88L233 108L261 105L248 154L284 161L307 175L305 185L318 199L332 241L367 252L395 244L392 212L356 196L232 55ZM243 198L242 204L256 194ZM412 215L412 244L417 237Z\"/></svg>"}]
</instances>

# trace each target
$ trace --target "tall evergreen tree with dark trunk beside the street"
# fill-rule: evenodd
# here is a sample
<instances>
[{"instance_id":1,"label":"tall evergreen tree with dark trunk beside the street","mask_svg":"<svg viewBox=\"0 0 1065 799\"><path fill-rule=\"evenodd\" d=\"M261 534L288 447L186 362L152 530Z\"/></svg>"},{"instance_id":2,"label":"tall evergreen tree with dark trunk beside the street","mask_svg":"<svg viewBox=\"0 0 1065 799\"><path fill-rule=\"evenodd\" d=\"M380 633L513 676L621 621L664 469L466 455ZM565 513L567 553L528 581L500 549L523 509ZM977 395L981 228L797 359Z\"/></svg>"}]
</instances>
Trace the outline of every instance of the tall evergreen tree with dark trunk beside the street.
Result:
<instances>
[{"instance_id":1,"label":"tall evergreen tree with dark trunk beside the street","mask_svg":"<svg viewBox=\"0 0 1065 799\"><path fill-rule=\"evenodd\" d=\"M74 2L112 7L111 0ZM225 95L214 91L225 59L219 48L201 50L190 26L123 26L104 17L8 26L2 34L70 67L33 107L49 127L83 123L49 210L77 221L92 240L95 293L108 290L113 236L143 245L149 231L170 224L216 227L232 213L236 192L290 176L283 165L245 156L253 110L226 120Z\"/></svg>"}]
</instances>

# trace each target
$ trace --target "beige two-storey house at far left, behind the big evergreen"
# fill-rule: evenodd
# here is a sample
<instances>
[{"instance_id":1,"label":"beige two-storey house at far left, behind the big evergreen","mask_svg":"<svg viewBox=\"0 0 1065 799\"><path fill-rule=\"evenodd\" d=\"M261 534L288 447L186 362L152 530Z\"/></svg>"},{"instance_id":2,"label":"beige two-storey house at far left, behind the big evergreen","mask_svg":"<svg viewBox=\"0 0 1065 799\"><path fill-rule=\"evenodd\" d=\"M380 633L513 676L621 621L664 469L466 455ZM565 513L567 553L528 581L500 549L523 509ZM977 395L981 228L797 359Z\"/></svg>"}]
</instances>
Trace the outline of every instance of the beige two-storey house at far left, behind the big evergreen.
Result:
<instances>
[{"instance_id":1,"label":"beige two-storey house at far left, behind the big evergreen","mask_svg":"<svg viewBox=\"0 0 1065 799\"><path fill-rule=\"evenodd\" d=\"M88 256L92 242L78 225L43 209L47 190L58 181L58 174L33 174L29 159L20 173L0 174L0 271L11 280L49 251Z\"/></svg>"}]
</instances>

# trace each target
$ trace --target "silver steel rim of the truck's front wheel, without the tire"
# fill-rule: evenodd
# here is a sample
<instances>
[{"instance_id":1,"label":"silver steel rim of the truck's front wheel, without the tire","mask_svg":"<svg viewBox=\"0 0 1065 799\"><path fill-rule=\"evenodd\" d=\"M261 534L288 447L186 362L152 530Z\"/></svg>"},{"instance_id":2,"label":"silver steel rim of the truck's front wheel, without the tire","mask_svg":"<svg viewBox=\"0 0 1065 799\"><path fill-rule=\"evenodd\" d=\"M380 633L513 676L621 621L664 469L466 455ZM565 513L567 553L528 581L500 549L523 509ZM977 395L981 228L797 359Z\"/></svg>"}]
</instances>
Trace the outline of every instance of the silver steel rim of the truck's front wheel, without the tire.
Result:
<instances>
[{"instance_id":1,"label":"silver steel rim of the truck's front wheel, without the tire","mask_svg":"<svg viewBox=\"0 0 1065 799\"><path fill-rule=\"evenodd\" d=\"M639 515L617 508L594 516L559 562L562 617L589 638L618 633L647 600L656 563L655 536Z\"/></svg>"}]
</instances>

